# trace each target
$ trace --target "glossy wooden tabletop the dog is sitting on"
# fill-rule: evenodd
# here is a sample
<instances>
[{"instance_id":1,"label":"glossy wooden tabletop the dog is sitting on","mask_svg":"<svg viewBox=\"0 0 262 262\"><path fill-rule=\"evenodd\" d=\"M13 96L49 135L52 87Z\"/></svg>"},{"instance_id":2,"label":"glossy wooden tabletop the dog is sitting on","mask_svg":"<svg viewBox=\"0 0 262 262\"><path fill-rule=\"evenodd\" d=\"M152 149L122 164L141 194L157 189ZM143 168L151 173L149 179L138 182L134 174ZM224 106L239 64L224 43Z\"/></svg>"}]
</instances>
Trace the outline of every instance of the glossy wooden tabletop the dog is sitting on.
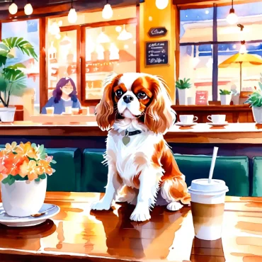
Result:
<instances>
[{"instance_id":1,"label":"glossy wooden tabletop the dog is sitting on","mask_svg":"<svg viewBox=\"0 0 262 262\"><path fill-rule=\"evenodd\" d=\"M138 223L129 220L132 205L90 212L98 198L47 193L46 203L59 205L59 214L35 227L0 226L0 261L262 261L262 198L227 197L217 241L194 239L190 207L154 207L152 219Z\"/></svg>"}]
</instances>

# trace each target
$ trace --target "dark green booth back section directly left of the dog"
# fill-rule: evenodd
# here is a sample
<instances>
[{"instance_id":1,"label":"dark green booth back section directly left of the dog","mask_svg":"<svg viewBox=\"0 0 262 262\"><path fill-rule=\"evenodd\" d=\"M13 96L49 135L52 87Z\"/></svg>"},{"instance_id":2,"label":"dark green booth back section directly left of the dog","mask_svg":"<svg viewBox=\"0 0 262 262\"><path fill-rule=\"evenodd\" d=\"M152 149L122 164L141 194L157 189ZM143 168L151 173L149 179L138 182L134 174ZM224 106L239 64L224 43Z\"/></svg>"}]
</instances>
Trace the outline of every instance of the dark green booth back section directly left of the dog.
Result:
<instances>
[{"instance_id":1,"label":"dark green booth back section directly left of the dog","mask_svg":"<svg viewBox=\"0 0 262 262\"><path fill-rule=\"evenodd\" d=\"M81 191L106 192L108 166L102 164L106 149L85 149L83 152L83 169Z\"/></svg>"}]
</instances>

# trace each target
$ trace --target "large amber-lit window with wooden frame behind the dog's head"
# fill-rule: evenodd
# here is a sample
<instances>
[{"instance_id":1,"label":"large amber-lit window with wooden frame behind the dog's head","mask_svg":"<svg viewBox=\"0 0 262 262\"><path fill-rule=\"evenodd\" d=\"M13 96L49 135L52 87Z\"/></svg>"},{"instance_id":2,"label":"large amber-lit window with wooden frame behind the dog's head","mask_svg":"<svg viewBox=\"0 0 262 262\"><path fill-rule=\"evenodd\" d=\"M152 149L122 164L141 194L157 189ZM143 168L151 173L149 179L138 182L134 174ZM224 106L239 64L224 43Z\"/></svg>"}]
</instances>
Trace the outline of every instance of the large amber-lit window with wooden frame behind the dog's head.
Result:
<instances>
[{"instance_id":1,"label":"large amber-lit window with wooden frame behind the dog's head","mask_svg":"<svg viewBox=\"0 0 262 262\"><path fill-rule=\"evenodd\" d=\"M57 81L70 77L81 104L101 99L103 79L112 71L136 72L136 6L114 9L103 21L101 12L80 13L76 25L50 18L47 36L48 98Z\"/></svg>"}]
</instances>

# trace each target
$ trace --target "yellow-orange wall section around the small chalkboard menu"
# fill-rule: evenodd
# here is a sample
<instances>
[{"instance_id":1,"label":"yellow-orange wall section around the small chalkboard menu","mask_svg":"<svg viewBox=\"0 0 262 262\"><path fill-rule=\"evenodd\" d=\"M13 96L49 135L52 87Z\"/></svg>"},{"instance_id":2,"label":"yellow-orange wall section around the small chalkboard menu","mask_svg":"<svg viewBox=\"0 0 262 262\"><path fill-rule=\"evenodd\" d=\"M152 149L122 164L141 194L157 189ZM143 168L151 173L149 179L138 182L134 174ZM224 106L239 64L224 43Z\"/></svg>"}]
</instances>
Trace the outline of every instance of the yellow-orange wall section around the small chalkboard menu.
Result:
<instances>
[{"instance_id":1,"label":"yellow-orange wall section around the small chalkboard menu","mask_svg":"<svg viewBox=\"0 0 262 262\"><path fill-rule=\"evenodd\" d=\"M139 52L140 72L162 76L169 86L169 93L175 101L176 76L176 9L172 1L164 10L156 8L155 0L147 0L139 6ZM165 27L168 32L161 38L150 38L147 34L150 28ZM145 67L145 42L154 40L169 40L169 65Z\"/></svg>"}]
</instances>

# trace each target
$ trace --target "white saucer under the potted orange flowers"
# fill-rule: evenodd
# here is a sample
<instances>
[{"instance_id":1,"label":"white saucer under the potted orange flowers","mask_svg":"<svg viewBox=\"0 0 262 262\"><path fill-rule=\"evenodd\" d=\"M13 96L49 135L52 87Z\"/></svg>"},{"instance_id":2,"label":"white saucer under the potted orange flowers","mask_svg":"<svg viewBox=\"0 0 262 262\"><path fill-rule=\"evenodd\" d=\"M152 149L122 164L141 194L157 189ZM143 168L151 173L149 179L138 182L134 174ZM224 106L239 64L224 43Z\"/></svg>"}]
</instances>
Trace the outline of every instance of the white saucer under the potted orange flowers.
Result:
<instances>
[{"instance_id":1,"label":"white saucer under the potted orange flowers","mask_svg":"<svg viewBox=\"0 0 262 262\"><path fill-rule=\"evenodd\" d=\"M8 227L32 227L54 217L59 211L60 207L57 207L57 205L43 204L39 213L46 213L40 217L11 217L6 214L3 204L0 203L0 224L4 224Z\"/></svg>"}]
</instances>

